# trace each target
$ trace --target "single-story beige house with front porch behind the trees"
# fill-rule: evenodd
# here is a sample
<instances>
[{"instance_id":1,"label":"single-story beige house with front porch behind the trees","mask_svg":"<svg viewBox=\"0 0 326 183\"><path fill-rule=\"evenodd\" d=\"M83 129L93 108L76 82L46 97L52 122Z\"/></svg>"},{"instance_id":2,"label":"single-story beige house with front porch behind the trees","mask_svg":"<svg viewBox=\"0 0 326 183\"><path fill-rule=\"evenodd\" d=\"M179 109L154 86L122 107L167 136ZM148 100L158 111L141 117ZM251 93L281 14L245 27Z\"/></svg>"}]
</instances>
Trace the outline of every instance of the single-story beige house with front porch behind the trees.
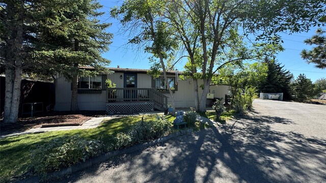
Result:
<instances>
[{"instance_id":1,"label":"single-story beige house with front porch behind the trees","mask_svg":"<svg viewBox=\"0 0 326 183\"><path fill-rule=\"evenodd\" d=\"M145 69L109 68L112 74L78 78L78 107L80 110L106 110L108 113L165 110L171 96L163 76L153 78ZM175 107L194 107L193 80L180 80L175 71L167 72L169 85L174 90ZM107 88L105 80L111 79L116 88ZM202 84L202 80L198 85ZM63 76L56 77L55 110L70 110L71 82ZM202 89L199 87L199 95ZM210 86L208 103L213 98L224 98L229 86Z\"/></svg>"}]
</instances>

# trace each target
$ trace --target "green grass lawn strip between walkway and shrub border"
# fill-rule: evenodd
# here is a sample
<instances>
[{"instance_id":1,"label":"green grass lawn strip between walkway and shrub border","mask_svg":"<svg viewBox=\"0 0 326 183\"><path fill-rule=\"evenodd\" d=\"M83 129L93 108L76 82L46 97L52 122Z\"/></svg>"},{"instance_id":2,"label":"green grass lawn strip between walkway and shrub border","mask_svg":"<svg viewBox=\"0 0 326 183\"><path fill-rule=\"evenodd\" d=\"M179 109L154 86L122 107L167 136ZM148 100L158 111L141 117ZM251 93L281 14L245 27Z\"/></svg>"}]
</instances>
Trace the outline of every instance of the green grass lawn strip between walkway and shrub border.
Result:
<instances>
[{"instance_id":1,"label":"green grass lawn strip between walkway and shrub border","mask_svg":"<svg viewBox=\"0 0 326 183\"><path fill-rule=\"evenodd\" d=\"M145 119L156 115L146 115ZM80 135L86 139L101 139L106 146L111 145L112 136L127 131L142 116L128 116L102 121L99 127L87 130L54 131L38 134L26 134L0 139L0 179L22 175L29 169L30 151L37 145L49 143L51 140Z\"/></svg>"}]
</instances>

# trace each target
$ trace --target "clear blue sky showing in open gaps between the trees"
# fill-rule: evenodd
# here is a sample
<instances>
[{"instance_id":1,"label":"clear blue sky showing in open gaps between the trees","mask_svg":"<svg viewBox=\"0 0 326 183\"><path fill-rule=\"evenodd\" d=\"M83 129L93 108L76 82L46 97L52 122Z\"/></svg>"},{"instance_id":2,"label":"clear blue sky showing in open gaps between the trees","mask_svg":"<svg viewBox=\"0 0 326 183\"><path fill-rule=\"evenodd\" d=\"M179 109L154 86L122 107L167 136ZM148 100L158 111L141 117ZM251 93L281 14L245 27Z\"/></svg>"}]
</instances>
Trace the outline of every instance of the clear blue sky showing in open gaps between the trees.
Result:
<instances>
[{"instance_id":1,"label":"clear blue sky showing in open gaps between the trees","mask_svg":"<svg viewBox=\"0 0 326 183\"><path fill-rule=\"evenodd\" d=\"M109 15L110 8L121 4L121 1L116 0L102 0L99 1L103 5L102 11L105 15L101 17L101 21L110 22L112 26L107 29L108 32L114 34L113 43L109 46L110 51L103 53L103 57L110 59L111 64L109 67L120 68L132 68L132 69L149 69L148 57L150 54L145 53L143 50L133 46L126 46L128 42L128 35L119 34L120 24L117 20L113 19ZM326 29L326 27L323 27ZM306 45L303 41L314 35L316 28L311 28L308 33L292 34L288 35L280 33L283 38L283 47L285 51L280 52L277 55L279 63L284 65L284 68L290 70L290 72L296 78L300 73L304 73L313 82L319 78L326 78L326 69L317 69L313 64L308 65L300 56L300 52L303 49L311 49L312 46ZM182 64L185 64L184 60L181 60L176 68L179 71L183 70Z\"/></svg>"}]
</instances>

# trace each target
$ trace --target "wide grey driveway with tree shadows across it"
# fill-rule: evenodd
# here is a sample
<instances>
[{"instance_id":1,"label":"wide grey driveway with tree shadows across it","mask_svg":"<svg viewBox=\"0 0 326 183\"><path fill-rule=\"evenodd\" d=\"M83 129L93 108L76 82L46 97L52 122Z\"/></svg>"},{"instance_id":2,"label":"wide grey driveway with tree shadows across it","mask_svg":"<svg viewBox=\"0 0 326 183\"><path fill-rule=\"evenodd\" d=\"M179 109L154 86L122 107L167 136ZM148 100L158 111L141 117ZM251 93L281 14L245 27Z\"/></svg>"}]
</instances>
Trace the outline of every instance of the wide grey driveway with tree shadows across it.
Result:
<instances>
[{"instance_id":1,"label":"wide grey driveway with tree shadows across it","mask_svg":"<svg viewBox=\"0 0 326 183\"><path fill-rule=\"evenodd\" d=\"M255 100L254 112L61 182L326 182L326 106Z\"/></svg>"}]
</instances>

